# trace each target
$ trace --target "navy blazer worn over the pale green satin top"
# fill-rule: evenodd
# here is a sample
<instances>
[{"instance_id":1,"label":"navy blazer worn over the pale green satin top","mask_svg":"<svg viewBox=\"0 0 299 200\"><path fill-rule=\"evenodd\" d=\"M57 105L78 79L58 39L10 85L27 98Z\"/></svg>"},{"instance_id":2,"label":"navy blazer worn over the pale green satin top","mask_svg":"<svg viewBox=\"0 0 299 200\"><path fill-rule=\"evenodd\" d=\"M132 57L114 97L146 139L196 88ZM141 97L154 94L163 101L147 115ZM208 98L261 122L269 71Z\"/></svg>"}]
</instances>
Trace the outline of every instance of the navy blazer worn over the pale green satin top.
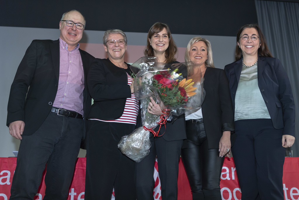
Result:
<instances>
[{"instance_id":1,"label":"navy blazer worn over the pale green satin top","mask_svg":"<svg viewBox=\"0 0 299 200\"><path fill-rule=\"evenodd\" d=\"M233 108L242 71L242 59L224 67L228 77ZM273 127L283 135L295 136L295 102L289 78L280 60L258 57L257 83L269 111Z\"/></svg>"}]
</instances>

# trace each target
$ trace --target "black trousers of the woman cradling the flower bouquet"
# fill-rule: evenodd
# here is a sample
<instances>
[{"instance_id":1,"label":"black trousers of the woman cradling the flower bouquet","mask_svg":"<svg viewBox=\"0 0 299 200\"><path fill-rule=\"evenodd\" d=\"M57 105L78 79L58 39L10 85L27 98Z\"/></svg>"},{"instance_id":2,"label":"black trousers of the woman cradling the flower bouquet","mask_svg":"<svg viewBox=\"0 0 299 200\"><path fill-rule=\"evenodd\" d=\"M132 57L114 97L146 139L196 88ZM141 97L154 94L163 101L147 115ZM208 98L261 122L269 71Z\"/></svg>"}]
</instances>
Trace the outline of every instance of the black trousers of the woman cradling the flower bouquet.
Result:
<instances>
[{"instance_id":1,"label":"black trousers of the woman cradling the flower bouquet","mask_svg":"<svg viewBox=\"0 0 299 200\"><path fill-rule=\"evenodd\" d=\"M171 134L171 133L167 133ZM158 158L158 170L161 180L162 199L177 200L179 159L183 140L166 141L163 137L154 137L150 133L149 155L140 163L136 163L137 200L153 200L154 166Z\"/></svg>"}]
</instances>

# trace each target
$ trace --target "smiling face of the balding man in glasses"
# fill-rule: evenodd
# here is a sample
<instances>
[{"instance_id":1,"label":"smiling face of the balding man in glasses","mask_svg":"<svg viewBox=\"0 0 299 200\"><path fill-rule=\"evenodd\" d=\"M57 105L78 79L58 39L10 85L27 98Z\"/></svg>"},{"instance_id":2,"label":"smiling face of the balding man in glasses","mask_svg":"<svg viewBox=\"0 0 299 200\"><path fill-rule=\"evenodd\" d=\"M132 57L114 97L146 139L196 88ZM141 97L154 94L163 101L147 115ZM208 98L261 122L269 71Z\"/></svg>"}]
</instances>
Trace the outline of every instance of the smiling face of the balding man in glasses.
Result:
<instances>
[{"instance_id":1,"label":"smiling face of the balding man in glasses","mask_svg":"<svg viewBox=\"0 0 299 200\"><path fill-rule=\"evenodd\" d=\"M63 20L71 20L75 23L85 25L84 17L77 11L71 11L65 14ZM68 44L68 50L73 50L82 38L83 30L80 30L74 24L72 27L67 26L65 21L59 23L60 38Z\"/></svg>"}]
</instances>

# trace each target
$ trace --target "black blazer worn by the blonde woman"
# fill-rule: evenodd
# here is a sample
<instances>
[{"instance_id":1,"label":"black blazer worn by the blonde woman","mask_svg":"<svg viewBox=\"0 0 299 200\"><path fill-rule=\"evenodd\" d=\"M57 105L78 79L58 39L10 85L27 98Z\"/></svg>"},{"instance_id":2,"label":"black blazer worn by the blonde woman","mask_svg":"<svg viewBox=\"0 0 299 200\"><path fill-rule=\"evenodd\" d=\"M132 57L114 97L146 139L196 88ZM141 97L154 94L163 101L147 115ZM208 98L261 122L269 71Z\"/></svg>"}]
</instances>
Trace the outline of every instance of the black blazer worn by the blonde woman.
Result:
<instances>
[{"instance_id":1,"label":"black blazer worn by the blonde woman","mask_svg":"<svg viewBox=\"0 0 299 200\"><path fill-rule=\"evenodd\" d=\"M234 144L234 113L228 79L222 69L208 67L204 75L205 100L202 103L202 118L208 140L208 148L219 148L224 130L231 131L231 146Z\"/></svg>"}]
</instances>

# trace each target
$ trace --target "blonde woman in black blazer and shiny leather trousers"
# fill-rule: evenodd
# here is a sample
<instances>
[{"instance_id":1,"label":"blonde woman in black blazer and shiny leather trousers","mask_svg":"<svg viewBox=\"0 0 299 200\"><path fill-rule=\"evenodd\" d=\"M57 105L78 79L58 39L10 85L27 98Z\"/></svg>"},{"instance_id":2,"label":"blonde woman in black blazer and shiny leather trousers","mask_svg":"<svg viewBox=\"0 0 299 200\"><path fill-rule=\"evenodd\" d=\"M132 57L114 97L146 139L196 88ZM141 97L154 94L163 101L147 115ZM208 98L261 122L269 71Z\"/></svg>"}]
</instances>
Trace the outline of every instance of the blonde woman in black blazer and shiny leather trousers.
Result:
<instances>
[{"instance_id":1,"label":"blonde woman in black blazer and shiny leather trousers","mask_svg":"<svg viewBox=\"0 0 299 200\"><path fill-rule=\"evenodd\" d=\"M234 131L228 79L224 70L214 67L211 44L205 38L189 41L185 61L193 61L188 78L204 78L206 95L201 107L185 113L187 140L182 160L193 199L221 200L222 164L225 154L230 154Z\"/></svg>"}]
</instances>

